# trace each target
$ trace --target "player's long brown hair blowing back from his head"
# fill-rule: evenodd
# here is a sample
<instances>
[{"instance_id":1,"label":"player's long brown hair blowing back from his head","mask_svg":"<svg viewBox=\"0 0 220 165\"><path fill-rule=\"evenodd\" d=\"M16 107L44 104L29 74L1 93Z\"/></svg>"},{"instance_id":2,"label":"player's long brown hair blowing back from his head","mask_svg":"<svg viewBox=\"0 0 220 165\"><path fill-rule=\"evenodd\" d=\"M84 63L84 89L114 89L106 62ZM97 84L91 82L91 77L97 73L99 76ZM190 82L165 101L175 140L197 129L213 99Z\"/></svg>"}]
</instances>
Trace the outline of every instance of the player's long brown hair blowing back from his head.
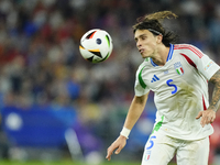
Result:
<instances>
[{"instance_id":1,"label":"player's long brown hair blowing back from his head","mask_svg":"<svg viewBox=\"0 0 220 165\"><path fill-rule=\"evenodd\" d=\"M161 21L170 18L177 18L177 15L170 11L161 11L139 18L138 23L132 26L133 32L135 33L136 30L148 30L154 35L162 35L162 43L169 47L170 43L176 42L177 35L173 32L166 32Z\"/></svg>"}]
</instances>

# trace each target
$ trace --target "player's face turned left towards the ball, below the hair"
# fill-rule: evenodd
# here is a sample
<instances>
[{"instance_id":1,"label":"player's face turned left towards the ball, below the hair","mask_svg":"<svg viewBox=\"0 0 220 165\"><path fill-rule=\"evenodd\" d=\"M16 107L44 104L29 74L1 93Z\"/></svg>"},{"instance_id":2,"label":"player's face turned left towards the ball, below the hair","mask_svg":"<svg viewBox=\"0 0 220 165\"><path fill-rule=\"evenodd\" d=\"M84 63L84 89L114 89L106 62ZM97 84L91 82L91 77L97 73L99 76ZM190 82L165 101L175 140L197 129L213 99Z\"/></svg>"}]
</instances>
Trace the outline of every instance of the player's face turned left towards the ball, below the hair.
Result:
<instances>
[{"instance_id":1,"label":"player's face turned left towards the ball, below the hair","mask_svg":"<svg viewBox=\"0 0 220 165\"><path fill-rule=\"evenodd\" d=\"M148 30L136 30L134 40L143 58L155 56L158 44L157 36L154 36Z\"/></svg>"}]
</instances>

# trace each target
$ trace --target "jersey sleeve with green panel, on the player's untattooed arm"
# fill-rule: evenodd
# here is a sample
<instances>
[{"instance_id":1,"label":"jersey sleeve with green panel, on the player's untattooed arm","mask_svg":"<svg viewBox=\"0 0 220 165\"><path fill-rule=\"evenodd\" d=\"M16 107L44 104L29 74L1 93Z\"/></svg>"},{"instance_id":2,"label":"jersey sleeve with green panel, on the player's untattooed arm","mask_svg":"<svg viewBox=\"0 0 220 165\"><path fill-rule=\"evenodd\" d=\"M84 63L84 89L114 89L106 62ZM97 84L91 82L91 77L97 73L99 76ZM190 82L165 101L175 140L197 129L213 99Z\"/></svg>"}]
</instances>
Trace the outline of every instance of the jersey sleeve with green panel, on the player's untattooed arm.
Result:
<instances>
[{"instance_id":1,"label":"jersey sleeve with green panel, on the player's untattooed arm","mask_svg":"<svg viewBox=\"0 0 220 165\"><path fill-rule=\"evenodd\" d=\"M136 72L136 79L134 85L134 92L135 96L143 96L150 91L148 87L144 84L142 78L142 70L144 69L144 66L141 65Z\"/></svg>"}]
</instances>

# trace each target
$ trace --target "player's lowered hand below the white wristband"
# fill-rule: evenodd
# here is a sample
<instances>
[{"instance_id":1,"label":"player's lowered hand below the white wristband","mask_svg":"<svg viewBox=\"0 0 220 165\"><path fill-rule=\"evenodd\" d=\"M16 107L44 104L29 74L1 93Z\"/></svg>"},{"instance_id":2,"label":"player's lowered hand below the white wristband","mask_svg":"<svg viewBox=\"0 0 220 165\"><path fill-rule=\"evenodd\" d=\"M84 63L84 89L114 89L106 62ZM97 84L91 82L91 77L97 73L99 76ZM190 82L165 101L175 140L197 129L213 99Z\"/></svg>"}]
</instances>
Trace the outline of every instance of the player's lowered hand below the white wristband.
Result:
<instances>
[{"instance_id":1,"label":"player's lowered hand below the white wristband","mask_svg":"<svg viewBox=\"0 0 220 165\"><path fill-rule=\"evenodd\" d=\"M127 144L127 138L123 135L120 135L107 150L107 156L106 158L108 161L111 160L111 155L113 154L113 151L117 148L114 154L119 154L121 150Z\"/></svg>"}]
</instances>

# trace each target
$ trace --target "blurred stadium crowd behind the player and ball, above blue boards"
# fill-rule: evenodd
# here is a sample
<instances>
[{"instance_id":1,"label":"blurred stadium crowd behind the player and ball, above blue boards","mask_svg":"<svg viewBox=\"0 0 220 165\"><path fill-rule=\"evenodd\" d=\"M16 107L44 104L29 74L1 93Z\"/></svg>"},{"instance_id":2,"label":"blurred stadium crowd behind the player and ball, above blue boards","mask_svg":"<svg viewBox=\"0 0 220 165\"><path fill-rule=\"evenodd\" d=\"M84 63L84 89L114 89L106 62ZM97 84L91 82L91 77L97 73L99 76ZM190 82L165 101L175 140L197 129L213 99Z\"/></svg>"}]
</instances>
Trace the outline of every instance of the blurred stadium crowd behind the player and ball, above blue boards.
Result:
<instances>
[{"instance_id":1,"label":"blurred stadium crowd behind the player and ball, above blue boards","mask_svg":"<svg viewBox=\"0 0 220 165\"><path fill-rule=\"evenodd\" d=\"M178 15L164 22L179 35L178 43L194 44L220 64L218 0L0 0L0 107L73 107L78 130L88 134L84 152L87 146L106 152L121 130L142 62L131 26L139 16L160 10ZM103 29L113 40L113 52L103 63L90 64L79 54L79 40L90 29ZM143 134L152 128L145 120L155 112L152 98L138 123ZM220 111L211 160L220 154L219 123ZM138 139L130 141L128 151L141 152L144 142L139 148Z\"/></svg>"}]
</instances>

